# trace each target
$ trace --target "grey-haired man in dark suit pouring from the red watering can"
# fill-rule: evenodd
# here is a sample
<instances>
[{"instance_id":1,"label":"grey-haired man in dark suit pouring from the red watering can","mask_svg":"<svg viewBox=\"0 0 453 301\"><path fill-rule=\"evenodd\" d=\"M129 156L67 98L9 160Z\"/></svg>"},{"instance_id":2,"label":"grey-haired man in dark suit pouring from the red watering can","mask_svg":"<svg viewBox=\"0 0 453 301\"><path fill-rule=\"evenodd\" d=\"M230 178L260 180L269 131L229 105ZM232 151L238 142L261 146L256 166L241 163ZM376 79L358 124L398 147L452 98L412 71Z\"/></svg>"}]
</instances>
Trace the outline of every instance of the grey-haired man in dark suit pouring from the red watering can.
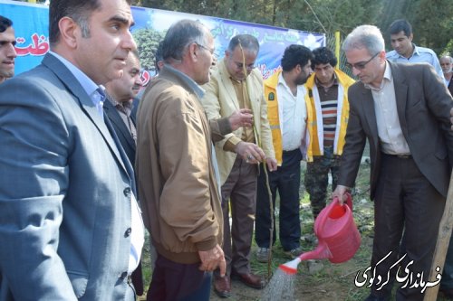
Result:
<instances>
[{"instance_id":1,"label":"grey-haired man in dark suit pouring from the red watering can","mask_svg":"<svg viewBox=\"0 0 453 301\"><path fill-rule=\"evenodd\" d=\"M357 27L342 48L360 81L349 89L350 118L333 196L342 200L353 186L368 139L375 274L367 300L390 300L401 238L406 247L400 258L402 273L419 286L400 287L397 300L422 300L420 282L429 277L453 159L453 101L428 64L386 61L384 40L375 26Z\"/></svg>"}]
</instances>

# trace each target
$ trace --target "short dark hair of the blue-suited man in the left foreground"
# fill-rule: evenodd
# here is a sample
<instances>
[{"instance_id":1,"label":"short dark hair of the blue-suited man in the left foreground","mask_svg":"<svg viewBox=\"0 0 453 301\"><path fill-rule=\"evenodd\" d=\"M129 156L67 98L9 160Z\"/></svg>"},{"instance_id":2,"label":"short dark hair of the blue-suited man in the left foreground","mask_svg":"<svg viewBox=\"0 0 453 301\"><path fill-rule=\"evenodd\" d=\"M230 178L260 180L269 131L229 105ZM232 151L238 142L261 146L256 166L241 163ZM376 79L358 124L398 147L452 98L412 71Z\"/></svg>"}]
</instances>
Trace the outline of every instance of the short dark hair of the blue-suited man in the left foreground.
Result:
<instances>
[{"instance_id":1,"label":"short dark hair of the blue-suited man in the left foreground","mask_svg":"<svg viewBox=\"0 0 453 301\"><path fill-rule=\"evenodd\" d=\"M124 1L131 4L131 0ZM98 9L101 9L100 0L52 0L49 5L49 42L53 44L60 39L58 23L65 16L81 26L84 38L90 37L88 20Z\"/></svg>"}]
</instances>

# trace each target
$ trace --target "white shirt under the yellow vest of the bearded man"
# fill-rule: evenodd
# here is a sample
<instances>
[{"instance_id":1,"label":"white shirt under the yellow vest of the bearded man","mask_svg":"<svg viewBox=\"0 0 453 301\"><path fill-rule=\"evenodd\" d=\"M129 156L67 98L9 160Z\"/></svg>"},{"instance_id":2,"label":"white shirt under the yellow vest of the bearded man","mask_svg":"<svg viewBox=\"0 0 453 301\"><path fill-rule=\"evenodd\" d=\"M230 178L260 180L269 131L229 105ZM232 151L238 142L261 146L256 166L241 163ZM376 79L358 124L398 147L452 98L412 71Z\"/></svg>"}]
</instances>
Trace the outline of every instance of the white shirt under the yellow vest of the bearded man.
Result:
<instances>
[{"instance_id":1,"label":"white shirt under the yellow vest of the bearded man","mask_svg":"<svg viewBox=\"0 0 453 301\"><path fill-rule=\"evenodd\" d=\"M292 151L301 146L302 137L305 133L307 109L303 85L297 86L296 95L294 95L286 84L282 72L278 77L277 97L283 108L283 120L280 122L283 150Z\"/></svg>"}]
</instances>

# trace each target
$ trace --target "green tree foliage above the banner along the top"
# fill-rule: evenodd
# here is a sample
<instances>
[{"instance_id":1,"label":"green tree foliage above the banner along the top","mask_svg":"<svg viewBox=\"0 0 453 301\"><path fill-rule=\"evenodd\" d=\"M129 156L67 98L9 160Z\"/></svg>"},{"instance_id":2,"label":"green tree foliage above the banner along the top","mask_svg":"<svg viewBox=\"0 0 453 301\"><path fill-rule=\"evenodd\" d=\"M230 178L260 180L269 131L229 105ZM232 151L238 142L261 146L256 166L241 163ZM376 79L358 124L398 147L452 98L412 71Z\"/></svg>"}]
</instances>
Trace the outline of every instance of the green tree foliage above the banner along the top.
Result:
<instances>
[{"instance_id":1,"label":"green tree foliage above the banner along the top","mask_svg":"<svg viewBox=\"0 0 453 301\"><path fill-rule=\"evenodd\" d=\"M414 42L437 53L446 50L453 30L451 0L136 0L136 5L343 36L360 24L375 24L388 50L387 29L399 18L412 24Z\"/></svg>"}]
</instances>

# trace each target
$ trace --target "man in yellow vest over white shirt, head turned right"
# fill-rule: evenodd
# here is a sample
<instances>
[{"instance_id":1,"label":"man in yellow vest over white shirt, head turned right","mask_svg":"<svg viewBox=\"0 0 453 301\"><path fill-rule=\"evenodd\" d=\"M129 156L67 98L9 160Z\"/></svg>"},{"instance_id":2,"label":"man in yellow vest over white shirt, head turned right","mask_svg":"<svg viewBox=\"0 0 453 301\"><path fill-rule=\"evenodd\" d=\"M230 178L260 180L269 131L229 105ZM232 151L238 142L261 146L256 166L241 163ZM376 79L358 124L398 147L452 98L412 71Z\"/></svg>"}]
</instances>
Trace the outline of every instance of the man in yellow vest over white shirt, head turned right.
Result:
<instances>
[{"instance_id":1,"label":"man in yellow vest over white shirt, head turned right","mask_svg":"<svg viewBox=\"0 0 453 301\"><path fill-rule=\"evenodd\" d=\"M304 146L306 108L304 83L312 73L310 49L290 45L284 50L283 71L277 71L265 80L267 118L277 160L277 169L268 173L273 208L278 190L280 195L279 237L284 251L291 257L302 253L300 248L301 222L299 218L299 186L301 160ZM265 173L261 166L256 198L255 241L258 245L256 259L266 262L269 258L271 213ZM275 227L272 244L275 243Z\"/></svg>"}]
</instances>

